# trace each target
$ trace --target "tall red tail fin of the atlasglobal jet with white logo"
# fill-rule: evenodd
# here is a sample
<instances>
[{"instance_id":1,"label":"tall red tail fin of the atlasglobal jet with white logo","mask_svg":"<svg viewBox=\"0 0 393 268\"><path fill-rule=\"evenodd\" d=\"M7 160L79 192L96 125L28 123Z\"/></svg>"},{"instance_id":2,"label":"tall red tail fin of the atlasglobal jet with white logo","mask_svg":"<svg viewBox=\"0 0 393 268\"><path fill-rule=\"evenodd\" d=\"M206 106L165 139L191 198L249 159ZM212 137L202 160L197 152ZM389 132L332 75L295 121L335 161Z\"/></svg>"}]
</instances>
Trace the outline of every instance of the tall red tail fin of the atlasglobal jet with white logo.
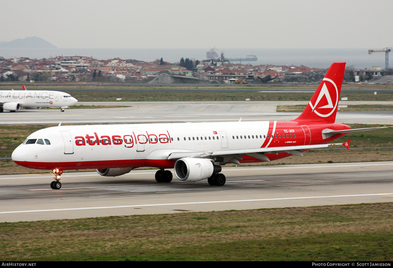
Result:
<instances>
[{"instance_id":1,"label":"tall red tail fin of the atlasglobal jet with white logo","mask_svg":"<svg viewBox=\"0 0 393 268\"><path fill-rule=\"evenodd\" d=\"M340 98L345 62L334 62L321 84L312 95L303 113L294 119L296 122L334 123L338 99Z\"/></svg>"}]
</instances>

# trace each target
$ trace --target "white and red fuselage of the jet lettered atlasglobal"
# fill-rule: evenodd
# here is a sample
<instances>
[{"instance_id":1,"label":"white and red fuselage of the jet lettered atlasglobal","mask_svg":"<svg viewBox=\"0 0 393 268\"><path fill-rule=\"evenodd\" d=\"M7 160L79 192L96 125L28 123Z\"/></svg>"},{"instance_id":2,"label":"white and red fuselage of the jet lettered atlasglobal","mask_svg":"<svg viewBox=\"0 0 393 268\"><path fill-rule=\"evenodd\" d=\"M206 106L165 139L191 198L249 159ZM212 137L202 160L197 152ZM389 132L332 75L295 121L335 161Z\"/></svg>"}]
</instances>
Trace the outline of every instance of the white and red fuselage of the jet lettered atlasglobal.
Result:
<instances>
[{"instance_id":1,"label":"white and red fuselage of the jet lettered atlasglobal","mask_svg":"<svg viewBox=\"0 0 393 268\"><path fill-rule=\"evenodd\" d=\"M170 168L174 161L168 157L175 152L303 146L337 139L323 139L320 133L326 124L306 127L294 121L57 126L29 135L15 149L12 159L38 169ZM307 135L304 129L308 130ZM50 145L39 144L38 139L47 139ZM272 153L269 158L288 156ZM245 156L240 162L255 160ZM228 161L225 157L217 159L220 163Z\"/></svg>"}]
</instances>

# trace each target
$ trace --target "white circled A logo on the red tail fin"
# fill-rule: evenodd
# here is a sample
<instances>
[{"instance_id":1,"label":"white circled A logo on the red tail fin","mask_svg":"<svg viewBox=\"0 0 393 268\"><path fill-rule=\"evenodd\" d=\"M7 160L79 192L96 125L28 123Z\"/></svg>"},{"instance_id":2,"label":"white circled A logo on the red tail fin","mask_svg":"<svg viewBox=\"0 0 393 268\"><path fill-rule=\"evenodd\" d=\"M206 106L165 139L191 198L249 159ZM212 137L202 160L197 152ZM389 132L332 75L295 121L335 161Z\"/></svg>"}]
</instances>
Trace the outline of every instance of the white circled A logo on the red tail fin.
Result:
<instances>
[{"instance_id":1,"label":"white circled A logo on the red tail fin","mask_svg":"<svg viewBox=\"0 0 393 268\"><path fill-rule=\"evenodd\" d=\"M314 113L316 113L317 115L319 115L320 117L329 117L335 110L338 104L338 89L336 84L333 82L333 80L329 79L329 78L323 78L322 81L327 81L325 83L323 83L323 86L321 88L321 91L318 95L318 98L315 102L314 105L312 105L311 100L309 102L310 107L312 109L312 111ZM334 86L334 88L333 88ZM322 103L325 104L324 106L318 107L318 104L320 103L321 100L324 100L323 96L325 96L326 101L323 101ZM332 98L333 97L333 98ZM334 106L333 106L333 101L334 102ZM326 104L327 102L327 104ZM326 109L324 111L327 111L327 113L320 113L317 111L322 112L320 109ZM327 110L329 109L329 110Z\"/></svg>"}]
</instances>

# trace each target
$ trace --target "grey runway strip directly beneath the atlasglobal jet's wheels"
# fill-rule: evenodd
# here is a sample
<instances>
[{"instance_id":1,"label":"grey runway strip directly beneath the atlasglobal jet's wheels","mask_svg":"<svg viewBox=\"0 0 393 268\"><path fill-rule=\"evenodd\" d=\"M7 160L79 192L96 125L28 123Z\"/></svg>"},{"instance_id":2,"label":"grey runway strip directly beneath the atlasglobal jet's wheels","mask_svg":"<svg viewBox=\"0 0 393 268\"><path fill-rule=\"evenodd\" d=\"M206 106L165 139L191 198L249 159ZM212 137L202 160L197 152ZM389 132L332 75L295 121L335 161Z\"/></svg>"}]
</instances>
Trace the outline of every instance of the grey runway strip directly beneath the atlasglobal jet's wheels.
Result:
<instances>
[{"instance_id":1,"label":"grey runway strip directly beneath the atlasglobal jet's wheels","mask_svg":"<svg viewBox=\"0 0 393 268\"><path fill-rule=\"evenodd\" d=\"M393 161L223 168L224 186L154 180L156 170L0 176L1 222L393 202Z\"/></svg>"}]
</instances>

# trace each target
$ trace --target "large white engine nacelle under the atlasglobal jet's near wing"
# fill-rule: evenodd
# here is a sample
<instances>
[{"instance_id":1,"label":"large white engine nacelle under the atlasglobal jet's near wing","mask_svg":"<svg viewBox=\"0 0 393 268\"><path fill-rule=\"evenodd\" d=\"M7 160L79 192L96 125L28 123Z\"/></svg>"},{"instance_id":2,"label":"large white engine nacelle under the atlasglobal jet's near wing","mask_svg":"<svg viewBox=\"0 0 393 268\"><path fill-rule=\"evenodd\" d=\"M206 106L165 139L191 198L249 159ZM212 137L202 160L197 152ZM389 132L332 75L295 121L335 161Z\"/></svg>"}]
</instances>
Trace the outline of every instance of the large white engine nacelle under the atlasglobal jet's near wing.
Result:
<instances>
[{"instance_id":1,"label":"large white engine nacelle under the atlasglobal jet's near wing","mask_svg":"<svg viewBox=\"0 0 393 268\"><path fill-rule=\"evenodd\" d=\"M219 173L221 167L213 165L209 159L181 158L174 164L174 174L179 180L198 181L208 179L213 173Z\"/></svg>"}]
</instances>

